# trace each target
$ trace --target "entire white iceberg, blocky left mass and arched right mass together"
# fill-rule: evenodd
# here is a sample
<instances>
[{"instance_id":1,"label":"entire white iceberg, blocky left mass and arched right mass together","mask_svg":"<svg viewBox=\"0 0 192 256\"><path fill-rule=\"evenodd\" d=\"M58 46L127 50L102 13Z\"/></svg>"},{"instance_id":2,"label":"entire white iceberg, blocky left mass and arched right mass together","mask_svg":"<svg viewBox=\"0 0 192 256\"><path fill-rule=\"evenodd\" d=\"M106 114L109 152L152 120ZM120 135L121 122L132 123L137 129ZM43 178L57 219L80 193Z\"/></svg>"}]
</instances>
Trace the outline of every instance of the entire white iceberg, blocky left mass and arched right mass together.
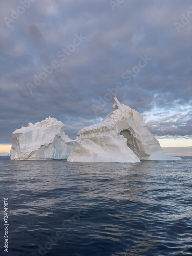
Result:
<instances>
[{"instance_id":1,"label":"entire white iceberg, blocky left mass and arched right mass together","mask_svg":"<svg viewBox=\"0 0 192 256\"><path fill-rule=\"evenodd\" d=\"M67 162L137 163L180 160L163 153L143 117L114 98L112 112L99 124L80 130L76 140L55 118L29 123L12 133L11 160L67 159Z\"/></svg>"}]
</instances>

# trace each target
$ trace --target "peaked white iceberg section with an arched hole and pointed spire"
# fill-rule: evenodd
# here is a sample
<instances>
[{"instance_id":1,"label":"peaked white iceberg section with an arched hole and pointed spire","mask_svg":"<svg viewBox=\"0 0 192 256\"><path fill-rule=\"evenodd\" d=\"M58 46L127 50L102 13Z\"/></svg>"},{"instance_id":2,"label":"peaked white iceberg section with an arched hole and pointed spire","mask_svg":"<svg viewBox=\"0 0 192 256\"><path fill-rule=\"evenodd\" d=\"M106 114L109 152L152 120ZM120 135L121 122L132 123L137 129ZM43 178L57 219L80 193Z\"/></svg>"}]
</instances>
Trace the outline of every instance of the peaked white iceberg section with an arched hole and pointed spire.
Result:
<instances>
[{"instance_id":1,"label":"peaked white iceberg section with an arched hole and pointed spire","mask_svg":"<svg viewBox=\"0 0 192 256\"><path fill-rule=\"evenodd\" d=\"M179 160L163 153L143 117L119 103L115 97L112 112L99 124L78 132L68 162L123 162L140 160Z\"/></svg>"}]
</instances>

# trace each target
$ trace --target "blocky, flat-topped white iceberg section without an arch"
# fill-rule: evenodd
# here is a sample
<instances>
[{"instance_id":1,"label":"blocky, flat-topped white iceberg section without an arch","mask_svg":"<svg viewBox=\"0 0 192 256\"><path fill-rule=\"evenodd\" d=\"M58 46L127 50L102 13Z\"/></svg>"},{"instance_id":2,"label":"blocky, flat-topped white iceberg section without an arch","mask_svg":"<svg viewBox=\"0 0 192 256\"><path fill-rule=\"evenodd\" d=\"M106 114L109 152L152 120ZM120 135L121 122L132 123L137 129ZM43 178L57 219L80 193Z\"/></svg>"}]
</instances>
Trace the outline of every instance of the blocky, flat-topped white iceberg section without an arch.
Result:
<instances>
[{"instance_id":1,"label":"blocky, flat-topped white iceberg section without an arch","mask_svg":"<svg viewBox=\"0 0 192 256\"><path fill-rule=\"evenodd\" d=\"M75 140L64 132L56 118L46 118L12 133L11 160L67 159Z\"/></svg>"}]
</instances>

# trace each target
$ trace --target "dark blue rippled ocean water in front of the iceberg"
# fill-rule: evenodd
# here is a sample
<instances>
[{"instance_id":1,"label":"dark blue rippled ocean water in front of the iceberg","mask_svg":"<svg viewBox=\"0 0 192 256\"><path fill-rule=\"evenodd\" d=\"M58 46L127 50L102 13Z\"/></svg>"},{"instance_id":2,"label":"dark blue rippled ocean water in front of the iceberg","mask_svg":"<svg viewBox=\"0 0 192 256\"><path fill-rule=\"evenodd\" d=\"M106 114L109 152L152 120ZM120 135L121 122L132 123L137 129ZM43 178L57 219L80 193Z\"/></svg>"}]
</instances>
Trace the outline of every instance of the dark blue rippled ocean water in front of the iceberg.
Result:
<instances>
[{"instance_id":1,"label":"dark blue rippled ocean water in front of the iceberg","mask_svg":"<svg viewBox=\"0 0 192 256\"><path fill-rule=\"evenodd\" d=\"M0 255L192 255L191 166L0 157Z\"/></svg>"}]
</instances>

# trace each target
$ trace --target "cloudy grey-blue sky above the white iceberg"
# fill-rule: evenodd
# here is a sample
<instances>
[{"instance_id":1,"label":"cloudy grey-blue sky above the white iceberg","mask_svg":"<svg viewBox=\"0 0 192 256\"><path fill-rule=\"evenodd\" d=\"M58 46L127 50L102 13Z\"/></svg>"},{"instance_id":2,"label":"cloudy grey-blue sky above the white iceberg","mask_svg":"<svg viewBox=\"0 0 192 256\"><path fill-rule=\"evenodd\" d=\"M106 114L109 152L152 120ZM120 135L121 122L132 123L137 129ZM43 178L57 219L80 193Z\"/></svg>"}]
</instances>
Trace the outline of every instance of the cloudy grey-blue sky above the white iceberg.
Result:
<instances>
[{"instance_id":1,"label":"cloudy grey-blue sky above the white iceberg","mask_svg":"<svg viewBox=\"0 0 192 256\"><path fill-rule=\"evenodd\" d=\"M46 117L75 139L113 98L164 147L191 146L191 0L0 2L0 144Z\"/></svg>"}]
</instances>

